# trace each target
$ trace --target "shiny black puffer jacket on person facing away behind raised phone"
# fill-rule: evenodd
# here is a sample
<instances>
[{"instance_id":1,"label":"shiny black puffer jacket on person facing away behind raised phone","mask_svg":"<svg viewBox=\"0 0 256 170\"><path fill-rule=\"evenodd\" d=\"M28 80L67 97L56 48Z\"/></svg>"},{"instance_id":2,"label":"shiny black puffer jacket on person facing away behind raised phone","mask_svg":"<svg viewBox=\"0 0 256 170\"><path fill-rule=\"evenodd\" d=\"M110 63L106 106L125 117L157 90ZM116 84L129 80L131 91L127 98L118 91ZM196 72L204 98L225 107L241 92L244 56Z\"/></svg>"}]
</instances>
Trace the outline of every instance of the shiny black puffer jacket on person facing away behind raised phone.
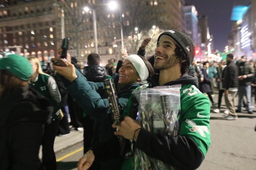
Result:
<instances>
[{"instance_id":1,"label":"shiny black puffer jacket on person facing away behind raised phone","mask_svg":"<svg viewBox=\"0 0 256 170\"><path fill-rule=\"evenodd\" d=\"M83 75L88 81L92 82L102 82L108 78L106 68L99 65L88 65L84 67Z\"/></svg>"}]
</instances>

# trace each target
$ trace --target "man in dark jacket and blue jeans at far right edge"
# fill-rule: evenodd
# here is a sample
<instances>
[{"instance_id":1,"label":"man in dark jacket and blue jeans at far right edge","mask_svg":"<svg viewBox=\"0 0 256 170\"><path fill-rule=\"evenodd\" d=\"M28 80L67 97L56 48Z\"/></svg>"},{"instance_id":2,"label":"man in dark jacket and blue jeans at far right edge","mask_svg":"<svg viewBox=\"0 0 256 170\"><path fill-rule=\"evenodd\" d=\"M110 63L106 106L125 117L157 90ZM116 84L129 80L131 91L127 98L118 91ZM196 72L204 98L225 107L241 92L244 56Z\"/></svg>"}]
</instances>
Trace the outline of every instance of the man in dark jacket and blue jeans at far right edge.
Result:
<instances>
[{"instance_id":1,"label":"man in dark jacket and blue jeans at far right edge","mask_svg":"<svg viewBox=\"0 0 256 170\"><path fill-rule=\"evenodd\" d=\"M236 112L241 112L243 97L246 97L246 109L249 114L252 114L251 103L251 82L254 76L254 69L249 62L246 62L246 56L241 56L241 62L238 65L238 107Z\"/></svg>"}]
</instances>

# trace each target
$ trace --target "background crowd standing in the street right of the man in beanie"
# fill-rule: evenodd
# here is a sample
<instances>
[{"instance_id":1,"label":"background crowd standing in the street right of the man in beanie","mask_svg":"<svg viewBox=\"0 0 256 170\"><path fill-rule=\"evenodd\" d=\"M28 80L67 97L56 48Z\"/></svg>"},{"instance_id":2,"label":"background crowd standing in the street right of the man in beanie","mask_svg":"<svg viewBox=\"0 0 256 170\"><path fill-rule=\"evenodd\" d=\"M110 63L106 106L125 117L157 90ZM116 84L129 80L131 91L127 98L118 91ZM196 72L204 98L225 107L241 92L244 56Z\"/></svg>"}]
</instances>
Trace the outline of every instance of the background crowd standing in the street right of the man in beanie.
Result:
<instances>
[{"instance_id":1,"label":"background crowd standing in the street right of the man in beanie","mask_svg":"<svg viewBox=\"0 0 256 170\"><path fill-rule=\"evenodd\" d=\"M214 113L220 113L222 96L224 93L226 110L223 112L227 120L236 120L237 113L242 112L242 107L248 114L252 114L252 96L256 93L255 62L247 61L246 56L235 60L235 56L227 54L225 60L220 62L197 62L190 66L190 74L195 74L199 79L199 90L206 93L217 108ZM218 102L214 102L212 95L218 91ZM234 102L238 97L238 103ZM254 98L254 103L256 103ZM237 107L236 107L237 106Z\"/></svg>"}]
</instances>

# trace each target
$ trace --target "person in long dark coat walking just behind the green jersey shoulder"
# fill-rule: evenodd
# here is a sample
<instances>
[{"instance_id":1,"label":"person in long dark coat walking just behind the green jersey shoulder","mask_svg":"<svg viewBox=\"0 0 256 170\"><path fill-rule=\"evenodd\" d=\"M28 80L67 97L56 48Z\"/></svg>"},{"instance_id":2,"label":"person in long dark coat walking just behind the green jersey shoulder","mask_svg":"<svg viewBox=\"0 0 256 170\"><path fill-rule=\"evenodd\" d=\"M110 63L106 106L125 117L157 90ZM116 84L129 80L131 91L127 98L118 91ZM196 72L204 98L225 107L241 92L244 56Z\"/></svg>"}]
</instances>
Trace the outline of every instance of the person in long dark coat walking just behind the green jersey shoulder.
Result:
<instances>
[{"instance_id":1,"label":"person in long dark coat walking just behind the green jersey shoulder","mask_svg":"<svg viewBox=\"0 0 256 170\"><path fill-rule=\"evenodd\" d=\"M208 95L210 101L212 102L212 106L215 106L218 103L215 103L213 101L213 98L212 98L212 95L211 95L211 93L212 93L212 90L211 90L211 80L208 78L208 74L207 74L208 68L209 68L209 62L205 61L203 63L203 68L201 69L202 73L204 75L204 80L202 82L199 82L199 90L202 93L206 93Z\"/></svg>"}]
</instances>

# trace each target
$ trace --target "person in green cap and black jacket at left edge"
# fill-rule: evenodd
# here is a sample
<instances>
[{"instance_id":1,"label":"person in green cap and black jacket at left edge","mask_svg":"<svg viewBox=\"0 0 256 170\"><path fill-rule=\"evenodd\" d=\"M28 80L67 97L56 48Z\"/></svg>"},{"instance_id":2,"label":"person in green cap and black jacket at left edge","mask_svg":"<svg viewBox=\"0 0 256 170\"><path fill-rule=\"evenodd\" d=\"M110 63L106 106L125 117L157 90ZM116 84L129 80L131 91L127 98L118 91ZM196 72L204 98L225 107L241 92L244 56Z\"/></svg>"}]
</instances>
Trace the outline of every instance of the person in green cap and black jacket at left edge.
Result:
<instances>
[{"instance_id":1,"label":"person in green cap and black jacket at left edge","mask_svg":"<svg viewBox=\"0 0 256 170\"><path fill-rule=\"evenodd\" d=\"M20 55L0 59L0 169L39 170L44 127L53 107L29 87L32 66Z\"/></svg>"}]
</instances>

